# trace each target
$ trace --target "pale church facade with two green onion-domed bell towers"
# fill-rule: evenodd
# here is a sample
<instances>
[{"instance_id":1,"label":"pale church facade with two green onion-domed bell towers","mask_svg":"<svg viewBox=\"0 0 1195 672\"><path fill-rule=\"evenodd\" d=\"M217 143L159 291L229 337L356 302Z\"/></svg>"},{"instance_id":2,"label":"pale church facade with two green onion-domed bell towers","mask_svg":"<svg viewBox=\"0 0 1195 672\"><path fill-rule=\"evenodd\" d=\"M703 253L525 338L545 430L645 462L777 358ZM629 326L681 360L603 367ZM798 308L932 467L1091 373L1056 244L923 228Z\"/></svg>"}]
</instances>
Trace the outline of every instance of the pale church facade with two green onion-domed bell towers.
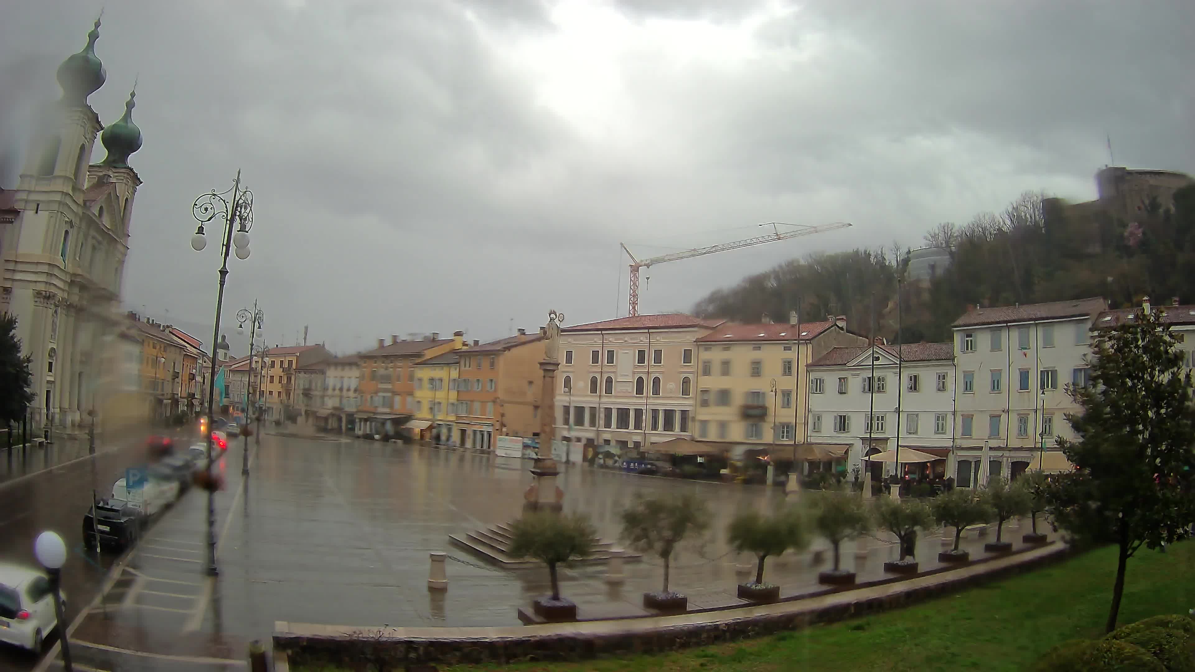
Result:
<instances>
[{"instance_id":1,"label":"pale church facade with two green onion-domed bell towers","mask_svg":"<svg viewBox=\"0 0 1195 672\"><path fill-rule=\"evenodd\" d=\"M135 92L108 127L87 103L108 78L96 55L99 25L87 45L59 66L62 98L41 115L30 138L17 188L6 194L16 216L0 230L0 311L17 317L23 353L32 360L35 426L85 421L103 389L105 347L122 317L121 283L141 185L129 157L141 147L141 130L133 123ZM97 140L108 155L92 164Z\"/></svg>"}]
</instances>

